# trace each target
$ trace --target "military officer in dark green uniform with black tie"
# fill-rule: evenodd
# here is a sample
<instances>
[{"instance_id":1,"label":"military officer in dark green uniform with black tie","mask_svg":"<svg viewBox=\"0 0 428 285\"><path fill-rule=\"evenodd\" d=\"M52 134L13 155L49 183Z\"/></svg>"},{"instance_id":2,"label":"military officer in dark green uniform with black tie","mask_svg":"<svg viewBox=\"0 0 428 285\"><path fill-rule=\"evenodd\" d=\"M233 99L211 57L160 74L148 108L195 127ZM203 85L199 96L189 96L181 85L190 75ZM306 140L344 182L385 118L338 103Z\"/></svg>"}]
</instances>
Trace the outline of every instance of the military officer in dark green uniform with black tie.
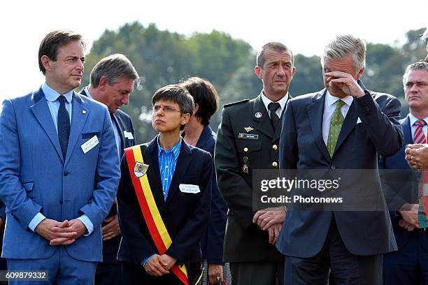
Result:
<instances>
[{"instance_id":1,"label":"military officer in dark green uniform with black tie","mask_svg":"<svg viewBox=\"0 0 428 285\"><path fill-rule=\"evenodd\" d=\"M285 211L253 210L252 175L255 169L278 169L280 117L294 72L292 52L281 43L267 43L255 66L262 92L222 111L214 159L218 189L229 207L224 261L230 263L233 284L283 284L283 256L273 244Z\"/></svg>"}]
</instances>

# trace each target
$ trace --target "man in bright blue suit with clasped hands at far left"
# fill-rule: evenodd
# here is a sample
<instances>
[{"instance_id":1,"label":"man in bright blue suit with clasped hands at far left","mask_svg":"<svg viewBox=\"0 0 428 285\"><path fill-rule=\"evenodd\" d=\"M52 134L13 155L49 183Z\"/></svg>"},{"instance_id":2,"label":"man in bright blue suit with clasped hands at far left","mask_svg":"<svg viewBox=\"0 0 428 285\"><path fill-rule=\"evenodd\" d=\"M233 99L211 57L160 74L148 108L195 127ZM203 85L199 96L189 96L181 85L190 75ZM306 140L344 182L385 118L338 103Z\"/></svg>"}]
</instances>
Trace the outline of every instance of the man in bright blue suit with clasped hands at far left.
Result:
<instances>
[{"instance_id":1,"label":"man in bright blue suit with clasped hands at far left","mask_svg":"<svg viewBox=\"0 0 428 285\"><path fill-rule=\"evenodd\" d=\"M47 270L52 284L93 284L120 178L106 106L73 91L84 61L80 34L50 32L38 50L45 83L0 114L2 257L12 271Z\"/></svg>"}]
</instances>

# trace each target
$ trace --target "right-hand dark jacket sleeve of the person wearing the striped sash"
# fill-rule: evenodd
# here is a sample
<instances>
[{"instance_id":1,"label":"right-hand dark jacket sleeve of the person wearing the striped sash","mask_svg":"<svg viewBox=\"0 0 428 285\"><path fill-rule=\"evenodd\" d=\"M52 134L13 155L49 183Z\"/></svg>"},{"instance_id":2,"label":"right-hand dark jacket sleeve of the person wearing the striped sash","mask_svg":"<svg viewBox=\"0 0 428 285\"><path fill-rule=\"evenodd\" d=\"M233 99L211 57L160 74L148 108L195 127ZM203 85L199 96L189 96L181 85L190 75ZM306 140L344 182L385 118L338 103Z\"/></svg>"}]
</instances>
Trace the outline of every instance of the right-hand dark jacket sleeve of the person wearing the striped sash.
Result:
<instances>
[{"instance_id":1,"label":"right-hand dark jacket sleeve of the person wearing the striped sash","mask_svg":"<svg viewBox=\"0 0 428 285\"><path fill-rule=\"evenodd\" d=\"M204 153L201 169L201 198L194 207L194 211L187 220L185 226L180 228L177 235L173 238L171 247L165 254L177 258L178 264L183 264L188 260L195 247L198 247L202 235L206 231L206 225L209 219L209 210L211 204L211 175L213 173L213 159L208 153Z\"/></svg>"}]
</instances>

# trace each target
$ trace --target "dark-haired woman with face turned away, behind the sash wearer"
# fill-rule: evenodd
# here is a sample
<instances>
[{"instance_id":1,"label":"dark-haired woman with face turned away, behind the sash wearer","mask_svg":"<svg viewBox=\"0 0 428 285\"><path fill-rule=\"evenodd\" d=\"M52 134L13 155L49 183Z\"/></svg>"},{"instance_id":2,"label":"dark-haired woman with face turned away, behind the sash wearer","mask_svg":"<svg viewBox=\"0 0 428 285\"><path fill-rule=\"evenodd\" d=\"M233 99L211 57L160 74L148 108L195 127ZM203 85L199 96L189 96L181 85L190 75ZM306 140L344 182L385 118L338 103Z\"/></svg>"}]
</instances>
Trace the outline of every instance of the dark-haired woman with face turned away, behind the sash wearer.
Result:
<instances>
[{"instance_id":1,"label":"dark-haired woman with face turned away, behind the sash wearer","mask_svg":"<svg viewBox=\"0 0 428 285\"><path fill-rule=\"evenodd\" d=\"M211 82L198 77L188 78L180 85L190 92L195 105L193 115L186 124L182 136L189 145L204 149L214 157L217 135L209 124L211 116L218 108L217 92ZM204 275L201 284L230 285L229 264L224 265L223 263L227 205L217 188L215 173L213 173L212 191L211 216L208 229L201 240L202 257L204 258Z\"/></svg>"}]
</instances>

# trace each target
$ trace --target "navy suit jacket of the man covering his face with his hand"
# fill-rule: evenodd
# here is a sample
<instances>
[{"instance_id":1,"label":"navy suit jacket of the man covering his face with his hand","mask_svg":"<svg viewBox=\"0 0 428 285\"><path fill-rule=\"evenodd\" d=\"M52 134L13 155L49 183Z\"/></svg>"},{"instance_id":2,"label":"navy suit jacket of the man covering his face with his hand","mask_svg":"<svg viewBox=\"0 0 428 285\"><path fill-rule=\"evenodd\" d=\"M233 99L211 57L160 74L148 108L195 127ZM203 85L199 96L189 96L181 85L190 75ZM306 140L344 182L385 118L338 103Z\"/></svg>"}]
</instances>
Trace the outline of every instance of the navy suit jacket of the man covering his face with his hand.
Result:
<instances>
[{"instance_id":1,"label":"navy suit jacket of the man covering his face with his hand","mask_svg":"<svg viewBox=\"0 0 428 285\"><path fill-rule=\"evenodd\" d=\"M352 101L330 158L322 139L325 94L323 89L288 101L280 138L280 168L377 169L378 154L399 151L403 145L400 103L391 95L371 92ZM357 124L358 117L362 122ZM381 191L378 181L373 193L382 197ZM287 256L315 256L324 245L333 215L350 253L373 255L397 249L387 211L288 212L277 248Z\"/></svg>"}]
</instances>

